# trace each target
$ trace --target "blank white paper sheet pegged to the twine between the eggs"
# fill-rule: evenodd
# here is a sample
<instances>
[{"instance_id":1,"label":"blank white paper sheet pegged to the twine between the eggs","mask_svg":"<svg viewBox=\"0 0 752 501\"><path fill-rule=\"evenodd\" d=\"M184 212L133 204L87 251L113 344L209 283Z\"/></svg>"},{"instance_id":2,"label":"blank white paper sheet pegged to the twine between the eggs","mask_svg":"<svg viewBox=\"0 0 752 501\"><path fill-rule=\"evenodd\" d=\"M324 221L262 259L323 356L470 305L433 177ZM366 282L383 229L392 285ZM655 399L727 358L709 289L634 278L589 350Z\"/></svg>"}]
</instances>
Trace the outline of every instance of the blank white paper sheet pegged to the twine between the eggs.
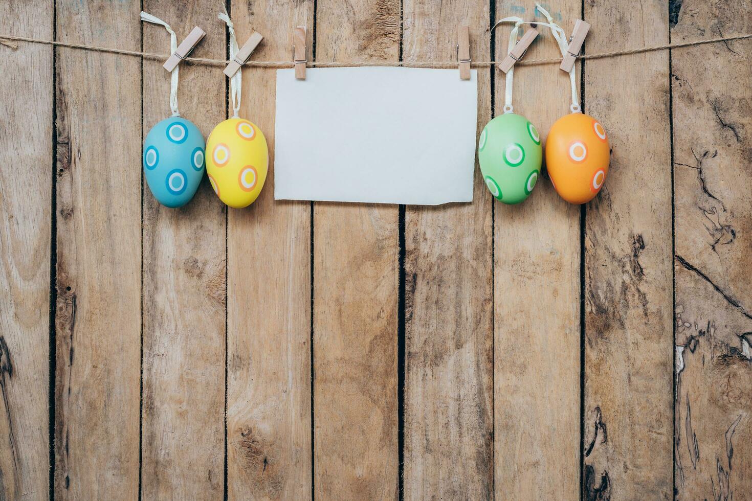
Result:
<instances>
[{"instance_id":1,"label":"blank white paper sheet pegged to the twine between the eggs","mask_svg":"<svg viewBox=\"0 0 752 501\"><path fill-rule=\"evenodd\" d=\"M274 198L472 201L477 71L277 70Z\"/></svg>"}]
</instances>

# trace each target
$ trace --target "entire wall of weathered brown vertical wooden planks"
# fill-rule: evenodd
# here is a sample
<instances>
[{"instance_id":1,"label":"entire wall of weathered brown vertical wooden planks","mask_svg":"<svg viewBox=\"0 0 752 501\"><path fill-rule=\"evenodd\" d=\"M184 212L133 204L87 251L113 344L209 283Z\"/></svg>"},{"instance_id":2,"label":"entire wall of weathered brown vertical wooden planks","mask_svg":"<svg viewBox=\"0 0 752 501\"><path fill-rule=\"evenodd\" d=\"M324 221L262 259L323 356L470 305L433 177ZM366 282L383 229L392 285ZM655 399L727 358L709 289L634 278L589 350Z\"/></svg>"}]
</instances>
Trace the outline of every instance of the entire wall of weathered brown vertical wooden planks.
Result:
<instances>
[{"instance_id":1,"label":"entire wall of weathered brown vertical wooden planks","mask_svg":"<svg viewBox=\"0 0 752 501\"><path fill-rule=\"evenodd\" d=\"M752 32L741 2L561 0L586 52ZM438 0L0 0L8 32L196 56L293 26L317 61L501 59L533 5ZM5 32L6 28L0 29ZM550 32L527 57L556 56ZM597 59L578 78L611 173L584 207L542 176L519 207L277 202L180 210L141 174L169 115L151 60L0 46L0 499L745 499L752 496L749 41ZM274 165L271 68L241 116ZM720 77L723 75L723 77ZM556 66L518 68L545 135ZM305 85L305 82L301 83ZM182 115L228 116L220 68L183 63ZM22 92L19 92L22 89ZM505 78L478 70L478 128ZM23 124L23 126L17 126ZM17 172L25 174L20 177Z\"/></svg>"}]
</instances>

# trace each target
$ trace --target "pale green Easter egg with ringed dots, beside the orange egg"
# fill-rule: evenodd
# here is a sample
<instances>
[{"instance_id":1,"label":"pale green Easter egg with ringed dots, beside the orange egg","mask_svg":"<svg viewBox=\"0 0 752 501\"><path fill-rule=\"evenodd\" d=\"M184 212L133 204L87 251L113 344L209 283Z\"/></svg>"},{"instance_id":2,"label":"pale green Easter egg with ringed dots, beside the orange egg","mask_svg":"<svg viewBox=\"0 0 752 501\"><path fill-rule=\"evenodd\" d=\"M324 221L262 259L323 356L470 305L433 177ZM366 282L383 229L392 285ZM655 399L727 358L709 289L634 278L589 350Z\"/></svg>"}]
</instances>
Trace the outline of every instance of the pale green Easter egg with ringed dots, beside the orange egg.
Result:
<instances>
[{"instance_id":1,"label":"pale green Easter egg with ringed dots, beside the orange egg","mask_svg":"<svg viewBox=\"0 0 752 501\"><path fill-rule=\"evenodd\" d=\"M528 198L541 173L541 137L524 116L504 113L481 131L478 160L491 195L505 204Z\"/></svg>"}]
</instances>

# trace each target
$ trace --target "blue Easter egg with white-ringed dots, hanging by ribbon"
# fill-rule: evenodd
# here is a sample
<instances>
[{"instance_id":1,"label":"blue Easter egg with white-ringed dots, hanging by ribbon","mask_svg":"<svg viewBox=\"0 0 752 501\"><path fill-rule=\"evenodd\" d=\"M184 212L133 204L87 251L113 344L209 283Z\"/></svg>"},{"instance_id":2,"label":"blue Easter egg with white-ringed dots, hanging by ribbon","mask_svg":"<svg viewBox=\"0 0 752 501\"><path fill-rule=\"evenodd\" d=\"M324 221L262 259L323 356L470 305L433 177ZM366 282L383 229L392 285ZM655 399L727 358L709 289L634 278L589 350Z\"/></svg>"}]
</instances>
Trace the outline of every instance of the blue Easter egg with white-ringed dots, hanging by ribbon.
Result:
<instances>
[{"instance_id":1,"label":"blue Easter egg with white-ringed dots, hanging by ribbon","mask_svg":"<svg viewBox=\"0 0 752 501\"><path fill-rule=\"evenodd\" d=\"M144 177L166 207L188 203L204 175L204 137L190 120L171 116L154 125L144 141Z\"/></svg>"}]
</instances>

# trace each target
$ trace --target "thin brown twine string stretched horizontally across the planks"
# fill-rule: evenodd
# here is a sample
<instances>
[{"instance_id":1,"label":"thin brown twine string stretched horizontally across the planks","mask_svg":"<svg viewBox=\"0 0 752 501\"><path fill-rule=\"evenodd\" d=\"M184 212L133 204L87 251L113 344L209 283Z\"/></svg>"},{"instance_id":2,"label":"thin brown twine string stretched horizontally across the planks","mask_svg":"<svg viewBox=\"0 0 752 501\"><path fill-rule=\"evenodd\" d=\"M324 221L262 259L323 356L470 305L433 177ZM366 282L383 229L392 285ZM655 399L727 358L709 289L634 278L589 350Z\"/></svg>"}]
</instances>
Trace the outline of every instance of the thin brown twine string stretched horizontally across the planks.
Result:
<instances>
[{"instance_id":1,"label":"thin brown twine string stretched horizontally across the planks","mask_svg":"<svg viewBox=\"0 0 752 501\"><path fill-rule=\"evenodd\" d=\"M727 42L734 40L747 40L752 38L752 33L746 33L744 35L732 35L728 37L718 38L705 38L703 40L687 41L687 42L675 42L672 44L660 44L653 45L651 47L638 47L625 50L613 50L605 53L594 54L581 54L577 56L577 59L604 59L617 56L630 56L632 54L650 53L660 50L669 49L681 49L683 47L694 47L696 45L704 44L717 44L719 42ZM169 56L165 54L145 53L138 52L138 50L123 50L113 49L111 47L97 47L95 45L86 44L71 44L69 42L44 40L41 38L29 38L20 37L17 35L0 35L0 44L8 45L9 41L28 42L29 44L44 44L52 45L54 47L66 47L68 49L80 49L80 50L92 50L95 52L119 54L120 56L135 56L142 57L144 59L156 59L166 61ZM11 47L13 48L13 47ZM183 59L186 62L192 62L198 65L229 65L229 61L226 59L210 59L203 57L186 57ZM560 64L561 58L548 58L548 59L528 59L515 63L515 66L535 66L535 65L552 65ZM456 68L459 63L457 61L351 61L351 62L317 62L309 61L306 63L308 68L354 68L359 66L396 66L402 68ZM472 68L487 68L492 65L499 65L501 61L473 61L470 63ZM244 64L247 68L293 68L293 61L248 61Z\"/></svg>"}]
</instances>

